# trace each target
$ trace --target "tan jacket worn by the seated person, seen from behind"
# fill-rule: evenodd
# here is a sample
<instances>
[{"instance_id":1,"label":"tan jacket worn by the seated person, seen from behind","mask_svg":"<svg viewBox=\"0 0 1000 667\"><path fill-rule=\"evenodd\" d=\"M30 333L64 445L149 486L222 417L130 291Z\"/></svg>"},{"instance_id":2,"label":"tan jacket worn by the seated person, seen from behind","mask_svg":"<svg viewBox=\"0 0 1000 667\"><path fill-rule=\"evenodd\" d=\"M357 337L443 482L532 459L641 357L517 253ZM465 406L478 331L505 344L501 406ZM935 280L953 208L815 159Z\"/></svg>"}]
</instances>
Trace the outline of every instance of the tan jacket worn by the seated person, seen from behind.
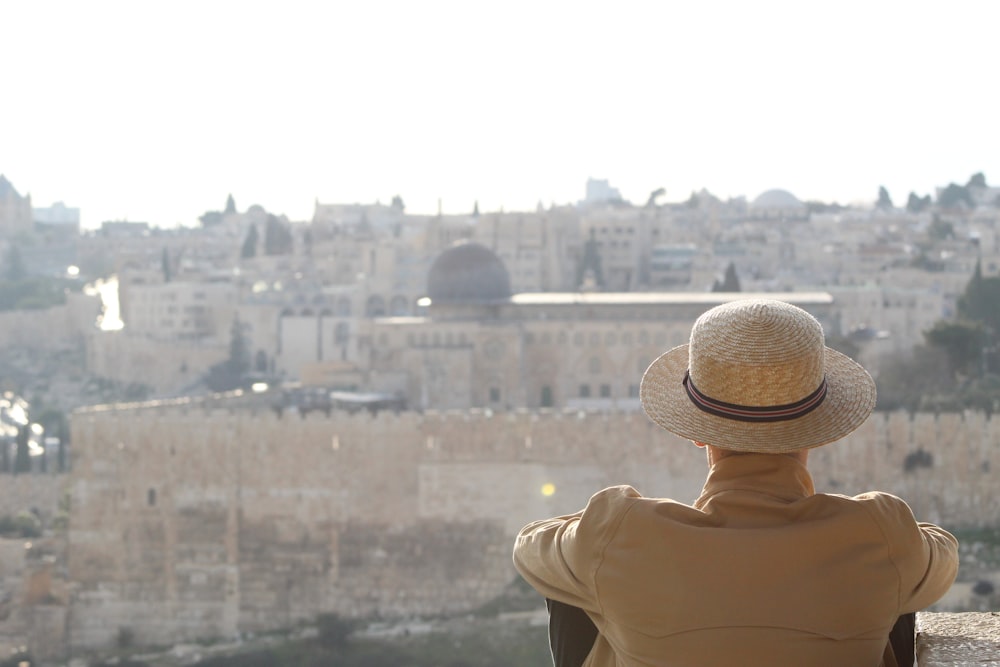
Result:
<instances>
[{"instance_id":1,"label":"tan jacket worn by the seated person, seen from behind","mask_svg":"<svg viewBox=\"0 0 1000 667\"><path fill-rule=\"evenodd\" d=\"M874 667L951 586L958 543L895 496L817 495L795 459L746 454L693 507L616 486L531 523L514 564L593 619L586 667Z\"/></svg>"}]
</instances>

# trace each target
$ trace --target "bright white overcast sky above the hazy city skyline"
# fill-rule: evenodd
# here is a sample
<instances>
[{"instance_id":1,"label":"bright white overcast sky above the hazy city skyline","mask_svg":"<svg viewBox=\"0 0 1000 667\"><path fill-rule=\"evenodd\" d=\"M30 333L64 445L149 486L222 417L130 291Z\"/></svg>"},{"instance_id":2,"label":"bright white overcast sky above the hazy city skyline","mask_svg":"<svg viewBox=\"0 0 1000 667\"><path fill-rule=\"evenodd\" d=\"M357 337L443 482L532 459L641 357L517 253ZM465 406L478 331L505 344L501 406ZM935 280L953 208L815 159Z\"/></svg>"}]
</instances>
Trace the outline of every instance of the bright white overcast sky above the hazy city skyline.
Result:
<instances>
[{"instance_id":1,"label":"bright white overcast sky above the hazy city skyline","mask_svg":"<svg viewBox=\"0 0 1000 667\"><path fill-rule=\"evenodd\" d=\"M0 173L83 224L232 193L534 209L608 179L897 203L1000 183L1000 2L10 0Z\"/></svg>"}]
</instances>

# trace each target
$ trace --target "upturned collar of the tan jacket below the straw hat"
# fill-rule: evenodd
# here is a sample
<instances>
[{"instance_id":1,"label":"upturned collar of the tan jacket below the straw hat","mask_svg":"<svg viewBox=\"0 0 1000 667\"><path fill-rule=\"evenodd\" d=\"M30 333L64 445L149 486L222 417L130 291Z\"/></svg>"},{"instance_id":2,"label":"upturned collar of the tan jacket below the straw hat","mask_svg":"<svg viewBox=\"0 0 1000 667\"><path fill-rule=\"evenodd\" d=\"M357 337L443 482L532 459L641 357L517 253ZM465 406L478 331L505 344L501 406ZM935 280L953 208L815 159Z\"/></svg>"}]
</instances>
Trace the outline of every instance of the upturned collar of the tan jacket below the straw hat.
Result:
<instances>
[{"instance_id":1,"label":"upturned collar of the tan jacket below the straw hat","mask_svg":"<svg viewBox=\"0 0 1000 667\"><path fill-rule=\"evenodd\" d=\"M708 472L701 496L695 501L704 509L713 496L724 491L763 494L792 502L816 493L805 465L781 454L738 454L727 456Z\"/></svg>"}]
</instances>

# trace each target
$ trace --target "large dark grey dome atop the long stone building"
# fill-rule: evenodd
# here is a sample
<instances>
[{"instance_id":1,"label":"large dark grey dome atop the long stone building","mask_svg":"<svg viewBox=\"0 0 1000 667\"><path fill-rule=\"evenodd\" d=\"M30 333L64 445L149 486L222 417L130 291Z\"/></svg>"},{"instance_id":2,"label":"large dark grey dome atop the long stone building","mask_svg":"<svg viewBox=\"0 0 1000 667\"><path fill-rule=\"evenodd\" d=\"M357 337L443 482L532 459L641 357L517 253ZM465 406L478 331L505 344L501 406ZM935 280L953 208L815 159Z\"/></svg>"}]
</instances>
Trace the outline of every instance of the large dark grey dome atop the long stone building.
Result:
<instances>
[{"instance_id":1,"label":"large dark grey dome atop the long stone building","mask_svg":"<svg viewBox=\"0 0 1000 667\"><path fill-rule=\"evenodd\" d=\"M432 304L482 303L510 297L503 260L478 243L459 241L434 260L427 274Z\"/></svg>"}]
</instances>

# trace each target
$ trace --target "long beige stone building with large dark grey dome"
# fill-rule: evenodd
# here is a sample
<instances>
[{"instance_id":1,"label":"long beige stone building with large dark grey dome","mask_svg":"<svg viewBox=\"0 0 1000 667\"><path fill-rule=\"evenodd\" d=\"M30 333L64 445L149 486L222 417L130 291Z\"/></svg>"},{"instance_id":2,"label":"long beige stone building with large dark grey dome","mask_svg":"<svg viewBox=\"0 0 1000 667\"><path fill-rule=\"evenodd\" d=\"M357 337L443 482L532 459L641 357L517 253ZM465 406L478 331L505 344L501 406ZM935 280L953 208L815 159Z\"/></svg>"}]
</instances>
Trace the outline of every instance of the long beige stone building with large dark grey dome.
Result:
<instances>
[{"instance_id":1,"label":"long beige stone building with large dark grey dome","mask_svg":"<svg viewBox=\"0 0 1000 667\"><path fill-rule=\"evenodd\" d=\"M833 299L822 292L511 294L504 263L476 243L438 257L427 293L420 316L355 321L339 358L338 348L323 352L335 331L330 318L303 318L294 345L316 356L300 376L331 386L361 377L364 389L399 395L420 409L634 409L649 363L687 342L694 320L714 305L766 296L834 323ZM292 322L286 324L291 332Z\"/></svg>"}]
</instances>

